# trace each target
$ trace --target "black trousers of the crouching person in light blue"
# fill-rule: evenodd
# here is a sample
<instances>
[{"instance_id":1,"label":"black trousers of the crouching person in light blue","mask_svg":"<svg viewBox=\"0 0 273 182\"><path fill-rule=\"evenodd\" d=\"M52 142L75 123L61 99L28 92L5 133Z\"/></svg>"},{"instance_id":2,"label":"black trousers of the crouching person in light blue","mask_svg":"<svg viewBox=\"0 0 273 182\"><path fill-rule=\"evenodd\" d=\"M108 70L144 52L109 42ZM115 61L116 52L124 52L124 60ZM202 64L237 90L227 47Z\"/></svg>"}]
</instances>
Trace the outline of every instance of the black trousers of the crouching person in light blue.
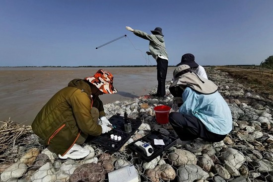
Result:
<instances>
[{"instance_id":1,"label":"black trousers of the crouching person in light blue","mask_svg":"<svg viewBox=\"0 0 273 182\"><path fill-rule=\"evenodd\" d=\"M171 112L169 122L182 141L202 138L208 142L220 142L226 137L208 131L198 118L180 112Z\"/></svg>"}]
</instances>

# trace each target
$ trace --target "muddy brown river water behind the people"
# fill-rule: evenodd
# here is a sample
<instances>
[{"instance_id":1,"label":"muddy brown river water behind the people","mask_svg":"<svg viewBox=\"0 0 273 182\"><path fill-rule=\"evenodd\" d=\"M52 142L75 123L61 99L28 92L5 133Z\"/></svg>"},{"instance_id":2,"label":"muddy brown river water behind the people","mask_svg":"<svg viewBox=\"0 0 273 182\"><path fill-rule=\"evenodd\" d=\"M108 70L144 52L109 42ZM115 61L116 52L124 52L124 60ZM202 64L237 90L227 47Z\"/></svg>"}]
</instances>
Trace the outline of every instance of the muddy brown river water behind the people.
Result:
<instances>
[{"instance_id":1,"label":"muddy brown river water behind the people","mask_svg":"<svg viewBox=\"0 0 273 182\"><path fill-rule=\"evenodd\" d=\"M104 104L149 94L157 86L156 67L42 68L0 67L0 121L10 118L31 125L37 113L57 91L76 78L93 76L99 69L114 75L115 94L103 94ZM172 80L168 68L166 81Z\"/></svg>"}]
</instances>

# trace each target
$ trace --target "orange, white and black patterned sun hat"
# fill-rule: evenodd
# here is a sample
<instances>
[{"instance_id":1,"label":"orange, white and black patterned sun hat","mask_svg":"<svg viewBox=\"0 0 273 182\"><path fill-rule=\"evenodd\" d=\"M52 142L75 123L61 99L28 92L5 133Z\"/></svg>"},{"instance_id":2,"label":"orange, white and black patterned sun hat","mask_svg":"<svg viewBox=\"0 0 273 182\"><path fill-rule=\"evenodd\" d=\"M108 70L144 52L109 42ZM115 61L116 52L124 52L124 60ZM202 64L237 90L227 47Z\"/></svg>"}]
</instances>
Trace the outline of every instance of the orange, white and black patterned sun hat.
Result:
<instances>
[{"instance_id":1,"label":"orange, white and black patterned sun hat","mask_svg":"<svg viewBox=\"0 0 273 182\"><path fill-rule=\"evenodd\" d=\"M103 93L118 92L113 86L114 76L105 70L100 69L93 77L84 78L96 86Z\"/></svg>"}]
</instances>

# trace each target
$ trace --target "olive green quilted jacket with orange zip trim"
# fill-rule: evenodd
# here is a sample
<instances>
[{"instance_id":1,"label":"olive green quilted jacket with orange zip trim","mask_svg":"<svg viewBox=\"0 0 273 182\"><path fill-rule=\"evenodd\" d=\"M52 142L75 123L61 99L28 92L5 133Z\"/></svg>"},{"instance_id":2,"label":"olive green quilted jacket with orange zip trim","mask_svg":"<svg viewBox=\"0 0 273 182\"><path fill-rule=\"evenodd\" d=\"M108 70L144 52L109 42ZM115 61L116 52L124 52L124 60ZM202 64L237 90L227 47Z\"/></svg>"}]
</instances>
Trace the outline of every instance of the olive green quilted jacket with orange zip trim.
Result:
<instances>
[{"instance_id":1,"label":"olive green quilted jacket with orange zip trim","mask_svg":"<svg viewBox=\"0 0 273 182\"><path fill-rule=\"evenodd\" d=\"M37 114L32 130L52 152L64 155L79 137L101 134L102 128L97 121L99 116L105 116L103 103L90 95L88 83L74 79Z\"/></svg>"}]
</instances>

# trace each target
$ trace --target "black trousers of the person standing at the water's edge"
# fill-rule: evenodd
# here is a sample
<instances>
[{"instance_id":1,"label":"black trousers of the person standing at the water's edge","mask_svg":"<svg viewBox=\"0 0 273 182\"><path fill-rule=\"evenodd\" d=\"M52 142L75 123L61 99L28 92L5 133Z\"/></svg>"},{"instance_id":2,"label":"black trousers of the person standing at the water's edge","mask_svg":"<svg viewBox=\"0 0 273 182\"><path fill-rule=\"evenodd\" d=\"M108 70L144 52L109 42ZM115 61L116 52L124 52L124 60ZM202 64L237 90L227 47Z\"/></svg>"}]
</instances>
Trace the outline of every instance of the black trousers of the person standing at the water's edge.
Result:
<instances>
[{"instance_id":1,"label":"black trousers of the person standing at the water's edge","mask_svg":"<svg viewBox=\"0 0 273 182\"><path fill-rule=\"evenodd\" d=\"M157 94L159 96L165 96L165 82L166 82L166 76L167 76L167 70L168 70L168 60L157 58L156 60L156 69L157 69Z\"/></svg>"}]
</instances>

